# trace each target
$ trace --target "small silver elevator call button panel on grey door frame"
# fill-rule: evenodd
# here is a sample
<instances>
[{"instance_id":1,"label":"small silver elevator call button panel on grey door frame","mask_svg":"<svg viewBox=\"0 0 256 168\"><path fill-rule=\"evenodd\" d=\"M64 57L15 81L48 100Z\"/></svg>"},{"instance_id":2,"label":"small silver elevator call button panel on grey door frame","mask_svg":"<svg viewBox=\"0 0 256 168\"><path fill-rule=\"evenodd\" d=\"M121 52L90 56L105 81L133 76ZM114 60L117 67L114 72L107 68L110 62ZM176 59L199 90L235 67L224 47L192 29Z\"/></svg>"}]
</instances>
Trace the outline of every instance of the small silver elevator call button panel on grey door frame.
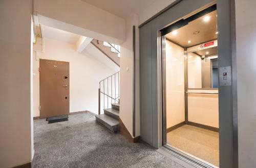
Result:
<instances>
[{"instance_id":1,"label":"small silver elevator call button panel on grey door frame","mask_svg":"<svg viewBox=\"0 0 256 168\"><path fill-rule=\"evenodd\" d=\"M220 86L231 86L231 66L219 67Z\"/></svg>"}]
</instances>

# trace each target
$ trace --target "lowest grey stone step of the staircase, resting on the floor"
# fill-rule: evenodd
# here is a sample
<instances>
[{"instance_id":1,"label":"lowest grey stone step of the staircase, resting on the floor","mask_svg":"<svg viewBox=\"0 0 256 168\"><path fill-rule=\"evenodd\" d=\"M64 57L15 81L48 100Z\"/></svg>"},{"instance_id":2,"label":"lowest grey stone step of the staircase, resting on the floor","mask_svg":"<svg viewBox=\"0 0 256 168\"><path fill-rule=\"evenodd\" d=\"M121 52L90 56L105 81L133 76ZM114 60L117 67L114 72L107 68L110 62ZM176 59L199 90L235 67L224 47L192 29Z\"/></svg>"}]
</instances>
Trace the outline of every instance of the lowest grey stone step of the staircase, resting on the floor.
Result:
<instances>
[{"instance_id":1,"label":"lowest grey stone step of the staircase, resting on the floor","mask_svg":"<svg viewBox=\"0 0 256 168\"><path fill-rule=\"evenodd\" d=\"M102 124L106 128L108 128L111 132L118 132L119 131L119 122L117 119L106 115L106 114L99 114L95 115L96 122Z\"/></svg>"}]
</instances>

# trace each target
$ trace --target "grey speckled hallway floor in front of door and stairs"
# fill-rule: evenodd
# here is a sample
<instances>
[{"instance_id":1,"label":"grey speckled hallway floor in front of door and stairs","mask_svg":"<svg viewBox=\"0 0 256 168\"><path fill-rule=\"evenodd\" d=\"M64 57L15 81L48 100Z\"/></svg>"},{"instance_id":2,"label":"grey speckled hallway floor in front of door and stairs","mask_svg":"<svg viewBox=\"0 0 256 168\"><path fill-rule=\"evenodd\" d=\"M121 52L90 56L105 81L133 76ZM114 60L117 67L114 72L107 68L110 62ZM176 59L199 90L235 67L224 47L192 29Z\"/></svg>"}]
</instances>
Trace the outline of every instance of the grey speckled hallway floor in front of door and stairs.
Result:
<instances>
[{"instance_id":1,"label":"grey speckled hallway floor in front of door and stairs","mask_svg":"<svg viewBox=\"0 0 256 168\"><path fill-rule=\"evenodd\" d=\"M177 167L143 142L131 143L95 122L90 113L69 121L34 121L34 168L37 167Z\"/></svg>"}]
</instances>

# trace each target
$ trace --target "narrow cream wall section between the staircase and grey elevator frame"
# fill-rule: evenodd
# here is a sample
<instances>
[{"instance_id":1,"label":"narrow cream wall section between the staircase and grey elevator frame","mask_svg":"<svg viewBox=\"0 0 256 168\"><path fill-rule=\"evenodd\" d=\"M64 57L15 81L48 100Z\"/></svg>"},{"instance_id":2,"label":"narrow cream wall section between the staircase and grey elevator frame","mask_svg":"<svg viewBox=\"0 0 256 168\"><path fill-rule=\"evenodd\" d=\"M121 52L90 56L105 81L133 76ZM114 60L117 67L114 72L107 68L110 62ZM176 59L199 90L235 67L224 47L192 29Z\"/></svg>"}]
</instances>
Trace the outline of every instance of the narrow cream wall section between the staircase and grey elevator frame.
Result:
<instances>
[{"instance_id":1,"label":"narrow cream wall section between the staircase and grey elevator frame","mask_svg":"<svg viewBox=\"0 0 256 168\"><path fill-rule=\"evenodd\" d=\"M126 41L121 44L120 55L120 118L133 135L133 25L136 26L136 122L135 137L140 135L139 106L139 17L134 14L126 20Z\"/></svg>"}]
</instances>

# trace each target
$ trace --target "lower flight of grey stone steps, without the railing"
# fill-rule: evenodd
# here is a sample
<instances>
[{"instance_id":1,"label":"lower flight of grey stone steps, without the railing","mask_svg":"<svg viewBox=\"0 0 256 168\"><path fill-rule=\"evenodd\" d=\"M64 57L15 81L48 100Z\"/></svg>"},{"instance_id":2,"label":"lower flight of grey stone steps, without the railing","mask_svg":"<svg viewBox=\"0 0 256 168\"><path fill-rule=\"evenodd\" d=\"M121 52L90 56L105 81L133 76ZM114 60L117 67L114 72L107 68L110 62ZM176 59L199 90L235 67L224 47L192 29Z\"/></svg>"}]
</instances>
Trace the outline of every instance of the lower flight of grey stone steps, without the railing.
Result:
<instances>
[{"instance_id":1,"label":"lower flight of grey stone steps, without the railing","mask_svg":"<svg viewBox=\"0 0 256 168\"><path fill-rule=\"evenodd\" d=\"M111 108L104 109L104 114L95 115L96 122L108 128L111 132L119 131L119 103L112 103Z\"/></svg>"}]
</instances>

